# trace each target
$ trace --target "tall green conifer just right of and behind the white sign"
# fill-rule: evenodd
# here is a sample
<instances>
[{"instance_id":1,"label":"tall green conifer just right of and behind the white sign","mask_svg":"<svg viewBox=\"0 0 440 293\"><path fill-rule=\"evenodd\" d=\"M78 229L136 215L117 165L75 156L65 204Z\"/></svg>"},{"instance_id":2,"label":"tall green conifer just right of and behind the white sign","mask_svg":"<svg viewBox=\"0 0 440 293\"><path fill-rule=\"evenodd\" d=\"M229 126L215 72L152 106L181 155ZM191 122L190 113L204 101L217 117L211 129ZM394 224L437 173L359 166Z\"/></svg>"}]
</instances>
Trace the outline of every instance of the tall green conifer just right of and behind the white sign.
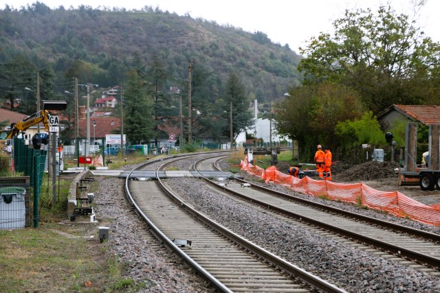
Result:
<instances>
[{"instance_id":1,"label":"tall green conifer just right of and behind the white sign","mask_svg":"<svg viewBox=\"0 0 440 293\"><path fill-rule=\"evenodd\" d=\"M127 73L124 87L124 132L131 143L153 137L153 102L146 95L145 81L136 69Z\"/></svg>"}]
</instances>

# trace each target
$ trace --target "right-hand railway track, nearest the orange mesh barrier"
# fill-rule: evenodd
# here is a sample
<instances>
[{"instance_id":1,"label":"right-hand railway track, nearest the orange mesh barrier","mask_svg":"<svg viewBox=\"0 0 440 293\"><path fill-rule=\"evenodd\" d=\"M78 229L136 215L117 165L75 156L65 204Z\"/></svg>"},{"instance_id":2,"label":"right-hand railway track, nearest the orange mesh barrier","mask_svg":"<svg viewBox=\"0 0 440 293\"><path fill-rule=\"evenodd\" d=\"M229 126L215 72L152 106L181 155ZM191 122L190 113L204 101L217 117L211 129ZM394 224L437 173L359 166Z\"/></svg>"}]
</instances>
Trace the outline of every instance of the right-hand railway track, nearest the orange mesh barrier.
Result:
<instances>
[{"instance_id":1,"label":"right-hand railway track, nearest the orange mesh barrier","mask_svg":"<svg viewBox=\"0 0 440 293\"><path fill-rule=\"evenodd\" d=\"M209 167L219 169L217 159L203 159L194 165L195 169L206 170ZM258 204L265 211L283 215L286 221L309 226L309 229L323 235L330 231L332 237L338 237L346 243L350 239L353 246L364 250L375 249L380 257L399 261L435 276L440 275L440 235L303 200L239 178L228 180L227 184L205 179L226 194Z\"/></svg>"}]
</instances>

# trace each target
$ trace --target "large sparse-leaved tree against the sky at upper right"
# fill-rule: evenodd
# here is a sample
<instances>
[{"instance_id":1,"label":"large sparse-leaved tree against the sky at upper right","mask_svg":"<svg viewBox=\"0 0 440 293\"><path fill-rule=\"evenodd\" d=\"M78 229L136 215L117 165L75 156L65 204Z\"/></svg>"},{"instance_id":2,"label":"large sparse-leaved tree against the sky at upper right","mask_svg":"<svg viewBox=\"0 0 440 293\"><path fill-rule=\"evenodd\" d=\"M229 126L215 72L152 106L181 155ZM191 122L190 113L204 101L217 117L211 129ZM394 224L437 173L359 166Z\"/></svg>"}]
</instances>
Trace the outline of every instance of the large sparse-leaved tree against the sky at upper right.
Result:
<instances>
[{"instance_id":1,"label":"large sparse-leaved tree against the sky at upper right","mask_svg":"<svg viewBox=\"0 0 440 293\"><path fill-rule=\"evenodd\" d=\"M438 96L440 88L432 82L438 83L440 45L423 36L405 14L395 14L390 6L380 7L377 14L347 10L333 27L333 36L322 33L300 49L307 58L298 69L306 80L353 87L374 114L390 104L430 99L415 84L431 84Z\"/></svg>"}]
</instances>

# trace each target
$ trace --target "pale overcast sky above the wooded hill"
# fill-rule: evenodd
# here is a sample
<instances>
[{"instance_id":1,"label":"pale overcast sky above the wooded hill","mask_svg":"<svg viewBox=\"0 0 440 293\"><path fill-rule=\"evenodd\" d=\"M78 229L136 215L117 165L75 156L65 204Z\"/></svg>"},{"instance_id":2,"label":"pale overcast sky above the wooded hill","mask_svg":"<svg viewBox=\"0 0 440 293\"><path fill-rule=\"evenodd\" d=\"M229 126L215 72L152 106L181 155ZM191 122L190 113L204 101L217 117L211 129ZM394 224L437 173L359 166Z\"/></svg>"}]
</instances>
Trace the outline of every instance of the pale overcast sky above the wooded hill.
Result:
<instances>
[{"instance_id":1,"label":"pale overcast sky above the wooded hill","mask_svg":"<svg viewBox=\"0 0 440 293\"><path fill-rule=\"evenodd\" d=\"M37 0L0 0L0 8L31 5ZM415 1L425 4L415 12ZM179 15L190 14L192 18L215 21L219 25L240 27L246 32L263 32L274 43L288 44L299 53L307 41L320 32L333 33L333 21L344 16L344 11L355 8L371 8L377 11L380 5L390 3L397 13L404 13L416 19L426 36L440 42L440 1L438 0L39 0L54 9L63 5L78 8L87 5L92 8L126 8L140 10L145 6ZM437 15L436 15L437 14Z\"/></svg>"}]
</instances>

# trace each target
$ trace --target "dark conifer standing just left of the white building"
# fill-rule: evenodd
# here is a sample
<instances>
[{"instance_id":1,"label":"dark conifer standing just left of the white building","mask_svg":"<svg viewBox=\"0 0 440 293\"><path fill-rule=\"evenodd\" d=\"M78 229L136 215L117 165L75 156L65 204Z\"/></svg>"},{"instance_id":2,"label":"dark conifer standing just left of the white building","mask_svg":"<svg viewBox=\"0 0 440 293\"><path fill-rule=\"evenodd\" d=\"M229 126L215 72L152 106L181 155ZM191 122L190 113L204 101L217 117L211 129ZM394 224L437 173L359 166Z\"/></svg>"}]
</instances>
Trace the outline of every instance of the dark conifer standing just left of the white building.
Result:
<instances>
[{"instance_id":1,"label":"dark conifer standing just left of the white building","mask_svg":"<svg viewBox=\"0 0 440 293\"><path fill-rule=\"evenodd\" d=\"M230 73L225 82L223 117L228 121L228 128L223 130L225 137L230 136L230 104L232 103L232 139L254 125L252 113L248 110L249 100L245 95L245 87L236 73Z\"/></svg>"}]
</instances>

